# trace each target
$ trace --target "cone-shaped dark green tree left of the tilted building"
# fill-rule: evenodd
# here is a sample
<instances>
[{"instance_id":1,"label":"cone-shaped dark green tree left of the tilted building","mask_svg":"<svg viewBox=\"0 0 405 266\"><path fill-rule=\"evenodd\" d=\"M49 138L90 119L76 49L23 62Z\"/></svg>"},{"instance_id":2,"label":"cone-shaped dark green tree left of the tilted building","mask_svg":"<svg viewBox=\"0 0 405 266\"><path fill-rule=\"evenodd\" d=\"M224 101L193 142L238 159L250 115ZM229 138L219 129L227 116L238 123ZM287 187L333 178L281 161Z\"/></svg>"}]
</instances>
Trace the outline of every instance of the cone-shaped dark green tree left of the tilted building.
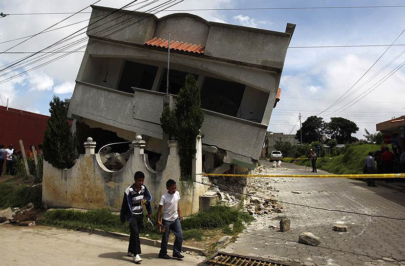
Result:
<instances>
[{"instance_id":1,"label":"cone-shaped dark green tree left of the tilted building","mask_svg":"<svg viewBox=\"0 0 405 266\"><path fill-rule=\"evenodd\" d=\"M77 159L76 136L72 135L67 123L67 110L70 99L62 101L53 96L49 103L51 118L46 125L43 137L43 158L56 168L71 168Z\"/></svg>"}]
</instances>

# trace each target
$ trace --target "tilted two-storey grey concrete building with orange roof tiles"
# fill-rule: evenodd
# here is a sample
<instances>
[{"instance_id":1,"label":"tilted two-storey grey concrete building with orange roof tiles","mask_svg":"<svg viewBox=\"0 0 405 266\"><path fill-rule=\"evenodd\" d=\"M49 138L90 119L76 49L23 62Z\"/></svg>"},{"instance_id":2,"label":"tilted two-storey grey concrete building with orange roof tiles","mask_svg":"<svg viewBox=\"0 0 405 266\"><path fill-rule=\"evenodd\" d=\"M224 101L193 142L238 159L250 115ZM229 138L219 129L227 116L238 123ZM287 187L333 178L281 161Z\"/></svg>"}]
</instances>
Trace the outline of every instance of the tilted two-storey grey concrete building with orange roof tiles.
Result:
<instances>
[{"instance_id":1,"label":"tilted two-storey grey concrete building with orange roof tiles","mask_svg":"<svg viewBox=\"0 0 405 266\"><path fill-rule=\"evenodd\" d=\"M168 152L160 115L170 32L170 93L184 86L187 73L201 90L203 170L213 172L223 163L255 167L295 24L276 32L185 13L158 19L120 10L104 18L116 9L92 8L89 41L68 112L87 127L83 137L100 129L116 133L117 139L142 135L151 165L163 168ZM114 140L106 137L104 143Z\"/></svg>"}]
</instances>

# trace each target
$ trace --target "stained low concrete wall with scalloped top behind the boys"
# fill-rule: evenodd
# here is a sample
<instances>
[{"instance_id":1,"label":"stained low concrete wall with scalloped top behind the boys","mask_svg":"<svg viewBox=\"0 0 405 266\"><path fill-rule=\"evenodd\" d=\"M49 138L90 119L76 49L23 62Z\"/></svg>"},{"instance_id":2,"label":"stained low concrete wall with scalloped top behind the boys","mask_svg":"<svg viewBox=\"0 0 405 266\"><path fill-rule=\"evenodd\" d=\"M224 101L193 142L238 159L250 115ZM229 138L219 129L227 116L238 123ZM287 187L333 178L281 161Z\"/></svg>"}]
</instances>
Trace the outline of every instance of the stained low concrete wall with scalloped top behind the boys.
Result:
<instances>
[{"instance_id":1,"label":"stained low concrete wall with scalloped top behind the boys","mask_svg":"<svg viewBox=\"0 0 405 266\"><path fill-rule=\"evenodd\" d=\"M108 170L99 155L80 155L70 169L57 169L44 161L43 164L43 204L47 207L66 207L81 209L107 208L119 211L125 189L133 183L136 171L145 174L145 185L152 195L152 210L156 211L160 197L167 192L166 181L171 178L178 182L180 207L184 215L198 211L199 195L207 188L201 184L190 187L179 182L180 158L177 146L170 148L171 153L165 169L155 172L150 168L148 155L139 147L125 166L116 172ZM201 171L201 170L200 170Z\"/></svg>"}]
</instances>

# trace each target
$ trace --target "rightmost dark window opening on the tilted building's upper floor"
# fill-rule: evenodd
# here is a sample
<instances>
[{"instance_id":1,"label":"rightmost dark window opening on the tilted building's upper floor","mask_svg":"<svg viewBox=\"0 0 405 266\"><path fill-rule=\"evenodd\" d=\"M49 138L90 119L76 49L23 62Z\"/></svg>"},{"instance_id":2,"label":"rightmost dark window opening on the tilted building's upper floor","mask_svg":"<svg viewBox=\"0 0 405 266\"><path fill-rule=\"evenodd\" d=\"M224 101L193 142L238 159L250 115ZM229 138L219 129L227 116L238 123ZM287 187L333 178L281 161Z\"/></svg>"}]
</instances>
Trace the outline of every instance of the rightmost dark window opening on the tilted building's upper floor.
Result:
<instances>
[{"instance_id":1,"label":"rightmost dark window opening on the tilted building's upper floor","mask_svg":"<svg viewBox=\"0 0 405 266\"><path fill-rule=\"evenodd\" d=\"M206 77L201 91L203 109L236 117L245 85Z\"/></svg>"}]
</instances>

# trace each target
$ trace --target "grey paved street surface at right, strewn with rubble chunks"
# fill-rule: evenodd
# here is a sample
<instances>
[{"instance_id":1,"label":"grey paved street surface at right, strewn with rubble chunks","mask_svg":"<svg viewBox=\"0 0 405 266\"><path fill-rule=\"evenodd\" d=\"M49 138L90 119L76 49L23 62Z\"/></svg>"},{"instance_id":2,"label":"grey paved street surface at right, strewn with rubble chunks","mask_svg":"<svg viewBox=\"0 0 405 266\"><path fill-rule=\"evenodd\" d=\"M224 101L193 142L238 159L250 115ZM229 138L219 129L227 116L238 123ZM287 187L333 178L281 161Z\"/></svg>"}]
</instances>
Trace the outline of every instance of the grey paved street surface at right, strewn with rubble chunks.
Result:
<instances>
[{"instance_id":1,"label":"grey paved street surface at right, strewn with rubble chunks","mask_svg":"<svg viewBox=\"0 0 405 266\"><path fill-rule=\"evenodd\" d=\"M268 167L268 162L262 162ZM283 163L272 174L304 174L305 167ZM313 174L313 173L307 173ZM318 174L327 174L318 171ZM405 218L405 194L385 187L367 187L346 178L262 178L274 199L316 207ZM295 193L292 193L295 192ZM298 194L299 193L299 194ZM287 258L304 265L405 266L405 221L331 212L281 203L282 214L256 216L235 243L223 251L263 258ZM280 217L291 219L291 230L269 228ZM344 224L347 232L335 232ZM321 238L318 246L298 244L302 232Z\"/></svg>"}]
</instances>

